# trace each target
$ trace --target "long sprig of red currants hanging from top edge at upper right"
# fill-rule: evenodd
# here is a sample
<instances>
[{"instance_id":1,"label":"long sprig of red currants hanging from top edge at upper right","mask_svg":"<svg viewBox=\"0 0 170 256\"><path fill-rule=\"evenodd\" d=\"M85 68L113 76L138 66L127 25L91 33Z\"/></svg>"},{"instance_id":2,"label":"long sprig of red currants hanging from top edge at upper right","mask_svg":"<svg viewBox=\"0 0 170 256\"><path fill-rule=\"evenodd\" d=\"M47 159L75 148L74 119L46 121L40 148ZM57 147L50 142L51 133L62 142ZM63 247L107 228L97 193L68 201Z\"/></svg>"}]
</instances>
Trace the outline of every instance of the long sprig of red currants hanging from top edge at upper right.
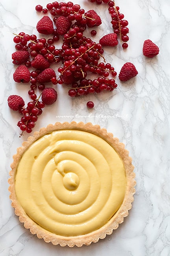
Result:
<instances>
[{"instance_id":1,"label":"long sprig of red currants hanging from top edge at upper right","mask_svg":"<svg viewBox=\"0 0 170 256\"><path fill-rule=\"evenodd\" d=\"M126 49L128 44L126 43L129 41L129 37L127 34L129 33L129 28L127 28L128 21L124 20L124 14L119 12L119 6L116 6L115 1L111 0L89 0L91 3L96 4L108 4L109 13L111 15L111 24L113 27L113 31L115 34L120 36L120 43L122 47ZM123 43L122 43L123 42Z\"/></svg>"}]
</instances>

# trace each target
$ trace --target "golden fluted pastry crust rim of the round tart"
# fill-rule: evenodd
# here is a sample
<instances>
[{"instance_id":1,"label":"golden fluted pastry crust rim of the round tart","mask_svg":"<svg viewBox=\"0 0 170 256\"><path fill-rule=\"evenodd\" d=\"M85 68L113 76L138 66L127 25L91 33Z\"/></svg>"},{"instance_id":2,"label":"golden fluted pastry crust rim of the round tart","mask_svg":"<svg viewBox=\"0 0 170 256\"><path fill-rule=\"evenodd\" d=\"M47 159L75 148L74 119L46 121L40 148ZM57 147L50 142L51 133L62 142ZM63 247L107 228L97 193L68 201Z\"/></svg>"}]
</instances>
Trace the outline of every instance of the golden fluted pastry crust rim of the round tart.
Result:
<instances>
[{"instance_id":1,"label":"golden fluted pastry crust rim of the round tart","mask_svg":"<svg viewBox=\"0 0 170 256\"><path fill-rule=\"evenodd\" d=\"M44 136L45 134L48 134L49 132L55 130L65 129L87 131L105 139L105 141L107 141L115 149L115 151L119 154L122 161L124 162L127 179L124 201L121 207L115 213L115 215L113 215L113 217L100 229L76 237L63 237L48 232L44 228L41 228L41 226L31 220L31 218L29 218L28 215L24 212L24 210L18 203L15 194L15 173L17 171L18 162L20 161L20 158L22 157L24 151L26 151L34 141ZM135 173L133 172L133 170L134 166L132 164L132 158L129 157L129 151L125 149L124 143L121 143L118 138L113 136L112 133L108 133L105 128L100 128L99 125L93 125L91 122L56 122L55 124L49 124L46 128L41 128L39 132L34 132L33 136L28 137L28 140L22 143L22 147L18 147L17 154L13 156L13 163L11 164L11 171L9 172L9 198L12 201L12 207L15 208L15 215L19 216L19 220L20 222L24 223L24 227L30 229L30 232L32 234L36 234L38 238L43 238L46 243L51 242L53 245L68 245L69 247L74 247L74 245L76 245L77 247L81 247L82 245L90 245L92 242L96 243L99 239L104 239L106 235L110 235L111 233L113 233L113 230L117 229L119 224L124 221L124 217L129 214L128 211L132 207L131 203L134 200L133 195L135 194L136 185Z\"/></svg>"}]
</instances>

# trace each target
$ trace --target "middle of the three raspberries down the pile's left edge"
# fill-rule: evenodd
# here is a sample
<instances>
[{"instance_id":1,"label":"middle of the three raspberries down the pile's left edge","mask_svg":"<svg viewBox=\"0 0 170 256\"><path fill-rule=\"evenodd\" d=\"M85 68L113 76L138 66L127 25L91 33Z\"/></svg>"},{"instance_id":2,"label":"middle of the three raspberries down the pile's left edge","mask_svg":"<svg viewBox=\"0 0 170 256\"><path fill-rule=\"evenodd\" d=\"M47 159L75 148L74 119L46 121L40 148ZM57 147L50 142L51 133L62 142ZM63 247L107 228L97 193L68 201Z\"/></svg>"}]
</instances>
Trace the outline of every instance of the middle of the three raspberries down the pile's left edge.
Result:
<instances>
[{"instance_id":1,"label":"middle of the three raspberries down the pile's left edge","mask_svg":"<svg viewBox=\"0 0 170 256\"><path fill-rule=\"evenodd\" d=\"M13 79L17 83L28 83L31 79L29 69L25 65L20 65L13 73Z\"/></svg>"}]
</instances>

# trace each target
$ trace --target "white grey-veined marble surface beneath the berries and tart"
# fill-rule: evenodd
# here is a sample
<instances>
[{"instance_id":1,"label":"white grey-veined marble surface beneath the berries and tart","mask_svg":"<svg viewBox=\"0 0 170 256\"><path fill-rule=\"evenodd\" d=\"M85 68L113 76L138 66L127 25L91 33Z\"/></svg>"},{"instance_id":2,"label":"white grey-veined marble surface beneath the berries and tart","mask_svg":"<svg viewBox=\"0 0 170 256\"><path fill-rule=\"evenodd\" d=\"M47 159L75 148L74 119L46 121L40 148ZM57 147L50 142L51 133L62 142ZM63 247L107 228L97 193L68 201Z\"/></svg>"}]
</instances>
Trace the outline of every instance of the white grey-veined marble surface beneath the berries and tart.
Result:
<instances>
[{"instance_id":1,"label":"white grey-veined marble surface beneath the berries and tart","mask_svg":"<svg viewBox=\"0 0 170 256\"><path fill-rule=\"evenodd\" d=\"M61 2L61 1L60 1ZM78 3L77 0L73 1ZM81 0L86 11L95 9L102 17L97 36L112 31L106 6ZM104 56L119 73L127 62L135 64L137 77L121 83L117 90L83 98L69 98L67 87L57 86L58 100L46 107L34 128L56 121L92 122L107 128L126 144L136 173L136 194L129 216L118 230L89 247L54 246L32 235L19 222L11 207L8 192L10 164L17 147L28 134L19 138L18 114L10 111L7 97L19 94L28 100L29 85L13 81L15 51L12 32L37 34L41 14L35 6L46 0L0 0L0 256L169 256L170 255L170 2L169 0L116 1L129 21L129 48L105 48ZM37 34L38 35L38 34ZM159 48L158 56L142 55L144 40ZM93 100L94 109L86 102Z\"/></svg>"}]
</instances>

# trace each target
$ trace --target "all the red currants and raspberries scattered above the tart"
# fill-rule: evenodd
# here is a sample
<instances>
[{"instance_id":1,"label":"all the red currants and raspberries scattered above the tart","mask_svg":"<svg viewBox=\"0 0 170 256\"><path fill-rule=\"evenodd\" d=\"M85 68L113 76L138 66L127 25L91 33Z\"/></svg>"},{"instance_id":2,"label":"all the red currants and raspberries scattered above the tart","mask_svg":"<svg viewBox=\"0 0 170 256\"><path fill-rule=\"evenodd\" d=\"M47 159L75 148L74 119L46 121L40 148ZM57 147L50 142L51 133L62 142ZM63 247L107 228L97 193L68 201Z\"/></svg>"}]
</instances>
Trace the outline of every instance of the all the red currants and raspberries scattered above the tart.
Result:
<instances>
[{"instance_id":1,"label":"all the red currants and raspberries scattered above the tart","mask_svg":"<svg viewBox=\"0 0 170 256\"><path fill-rule=\"evenodd\" d=\"M90 0L97 4L108 4L112 17L114 33L103 36L99 43L86 37L83 32L87 27L93 28L102 24L100 16L94 10L85 12L79 4L72 2L48 3L46 8L41 5L35 7L36 11L44 15L37 23L36 28L40 34L50 36L37 38L35 34L20 32L14 34L15 51L12 54L13 64L17 68L13 74L16 83L30 83L28 95L31 100L27 106L22 97L11 95L8 105L18 111L22 117L17 125L23 132L30 133L35 126L39 115L45 105L54 104L57 100L57 91L54 85L69 85L68 96L78 97L87 94L113 91L117 84L117 75L114 67L107 63L103 56L103 46L115 47L118 44L118 35L123 42L128 41L126 27L128 22L123 20L124 15L119 13L114 1ZM50 17L49 17L49 15ZM96 35L96 30L91 30L91 36ZM55 47L55 42L62 39L61 47ZM122 47L127 48L127 43ZM150 40L143 45L143 54L152 58L159 53L159 48ZM101 62L101 59L103 62ZM53 69L51 64L57 65ZM119 73L120 81L127 81L137 75L135 66L127 62ZM88 79L88 74L95 74L95 79ZM51 86L49 86L49 83ZM48 84L48 87L47 85ZM37 96L36 90L39 90ZM87 102L87 107L94 107L94 103Z\"/></svg>"}]
</instances>

